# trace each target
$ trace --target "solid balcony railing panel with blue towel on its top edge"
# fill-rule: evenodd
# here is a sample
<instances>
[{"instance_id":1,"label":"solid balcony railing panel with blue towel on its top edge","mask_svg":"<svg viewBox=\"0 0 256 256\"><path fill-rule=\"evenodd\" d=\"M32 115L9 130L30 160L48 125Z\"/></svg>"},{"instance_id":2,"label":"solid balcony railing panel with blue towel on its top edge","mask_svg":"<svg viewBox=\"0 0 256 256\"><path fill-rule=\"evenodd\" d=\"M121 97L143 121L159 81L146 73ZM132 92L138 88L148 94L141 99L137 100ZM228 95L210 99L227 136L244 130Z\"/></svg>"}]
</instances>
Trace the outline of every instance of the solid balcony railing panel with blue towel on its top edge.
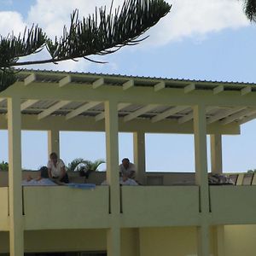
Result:
<instances>
[{"instance_id":1,"label":"solid balcony railing panel with blue towel on its top edge","mask_svg":"<svg viewBox=\"0 0 256 256\"><path fill-rule=\"evenodd\" d=\"M24 187L26 230L108 227L108 186Z\"/></svg>"}]
</instances>

